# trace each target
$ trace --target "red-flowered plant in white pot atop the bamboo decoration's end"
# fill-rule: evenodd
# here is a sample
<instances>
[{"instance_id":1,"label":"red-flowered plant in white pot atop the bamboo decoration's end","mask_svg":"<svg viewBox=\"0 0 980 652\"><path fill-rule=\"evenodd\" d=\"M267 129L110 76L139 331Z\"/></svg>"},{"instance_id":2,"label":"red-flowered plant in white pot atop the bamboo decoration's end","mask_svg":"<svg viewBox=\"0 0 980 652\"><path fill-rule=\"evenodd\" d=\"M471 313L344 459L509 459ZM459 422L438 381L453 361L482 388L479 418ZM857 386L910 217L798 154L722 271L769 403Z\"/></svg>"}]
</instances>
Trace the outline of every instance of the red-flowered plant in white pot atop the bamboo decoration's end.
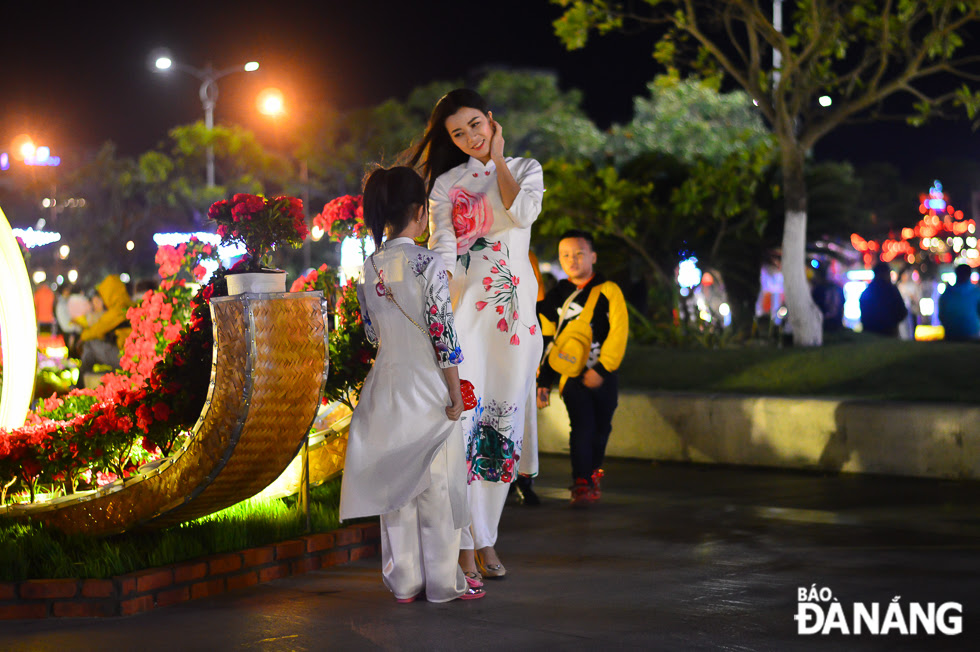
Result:
<instances>
[{"instance_id":1,"label":"red-flowered plant in white pot atop the bamboo decoration's end","mask_svg":"<svg viewBox=\"0 0 980 652\"><path fill-rule=\"evenodd\" d=\"M215 202L208 217L217 222L222 244L241 244L245 256L228 275L228 293L285 292L286 272L268 267L277 246L300 247L308 230L303 202L296 197L239 193Z\"/></svg>"}]
</instances>

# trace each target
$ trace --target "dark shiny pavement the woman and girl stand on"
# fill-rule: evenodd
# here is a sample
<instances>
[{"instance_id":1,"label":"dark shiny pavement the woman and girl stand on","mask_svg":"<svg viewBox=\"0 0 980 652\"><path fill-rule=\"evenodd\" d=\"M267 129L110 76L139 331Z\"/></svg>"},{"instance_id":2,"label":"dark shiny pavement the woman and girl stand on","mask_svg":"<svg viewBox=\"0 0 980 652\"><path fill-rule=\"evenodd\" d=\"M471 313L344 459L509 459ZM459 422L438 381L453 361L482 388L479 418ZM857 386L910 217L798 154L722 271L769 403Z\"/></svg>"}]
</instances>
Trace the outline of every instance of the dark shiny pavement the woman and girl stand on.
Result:
<instances>
[{"instance_id":1,"label":"dark shiny pavement the woman and girl stand on","mask_svg":"<svg viewBox=\"0 0 980 652\"><path fill-rule=\"evenodd\" d=\"M980 483L610 461L601 504L508 506L509 575L472 602L396 604L379 561L109 620L0 623L2 650L956 650L980 643ZM799 587L846 608L962 605L948 636L799 635ZM829 604L822 605L829 607Z\"/></svg>"}]
</instances>

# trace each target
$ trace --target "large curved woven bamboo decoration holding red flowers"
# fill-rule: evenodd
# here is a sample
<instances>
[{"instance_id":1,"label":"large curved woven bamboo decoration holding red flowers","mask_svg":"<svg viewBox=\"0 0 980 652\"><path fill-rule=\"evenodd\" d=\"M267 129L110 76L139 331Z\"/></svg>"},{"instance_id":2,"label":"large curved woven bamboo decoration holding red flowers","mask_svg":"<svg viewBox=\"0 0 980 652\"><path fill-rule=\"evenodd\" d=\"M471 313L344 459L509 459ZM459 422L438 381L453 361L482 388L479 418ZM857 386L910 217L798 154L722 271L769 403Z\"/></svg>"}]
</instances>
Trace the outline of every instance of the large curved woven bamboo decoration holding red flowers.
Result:
<instances>
[{"instance_id":1,"label":"large curved woven bamboo decoration holding red flowers","mask_svg":"<svg viewBox=\"0 0 980 652\"><path fill-rule=\"evenodd\" d=\"M242 294L211 301L211 384L187 443L140 473L50 503L12 506L68 533L176 525L262 491L296 457L327 377L322 294Z\"/></svg>"}]
</instances>

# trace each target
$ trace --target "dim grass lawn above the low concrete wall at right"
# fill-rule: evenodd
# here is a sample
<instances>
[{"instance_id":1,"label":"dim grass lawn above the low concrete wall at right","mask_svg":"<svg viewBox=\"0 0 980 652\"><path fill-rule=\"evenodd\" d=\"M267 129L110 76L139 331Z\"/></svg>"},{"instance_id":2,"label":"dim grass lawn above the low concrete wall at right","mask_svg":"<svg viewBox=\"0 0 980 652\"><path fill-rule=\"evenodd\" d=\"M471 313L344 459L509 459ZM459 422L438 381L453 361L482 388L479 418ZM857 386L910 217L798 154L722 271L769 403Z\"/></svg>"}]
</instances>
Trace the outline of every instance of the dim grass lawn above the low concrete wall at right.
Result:
<instances>
[{"instance_id":1,"label":"dim grass lawn above the low concrete wall at right","mask_svg":"<svg viewBox=\"0 0 980 652\"><path fill-rule=\"evenodd\" d=\"M682 392L980 403L980 344L850 333L824 346L720 349L630 344L620 386Z\"/></svg>"}]
</instances>

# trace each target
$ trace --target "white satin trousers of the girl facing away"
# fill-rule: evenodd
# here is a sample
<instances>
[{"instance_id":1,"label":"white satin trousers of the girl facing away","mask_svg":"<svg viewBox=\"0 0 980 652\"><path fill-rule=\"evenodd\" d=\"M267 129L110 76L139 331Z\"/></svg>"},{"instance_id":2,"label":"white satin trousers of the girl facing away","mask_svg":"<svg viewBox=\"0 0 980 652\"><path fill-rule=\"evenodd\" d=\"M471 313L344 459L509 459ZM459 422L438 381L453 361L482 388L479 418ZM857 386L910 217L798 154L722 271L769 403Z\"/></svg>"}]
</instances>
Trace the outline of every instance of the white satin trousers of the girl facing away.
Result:
<instances>
[{"instance_id":1,"label":"white satin trousers of the girl facing away","mask_svg":"<svg viewBox=\"0 0 980 652\"><path fill-rule=\"evenodd\" d=\"M466 591L448 468L443 444L429 467L429 488L404 507L381 515L381 573L396 598L410 598L425 589L429 602L448 602Z\"/></svg>"}]
</instances>

